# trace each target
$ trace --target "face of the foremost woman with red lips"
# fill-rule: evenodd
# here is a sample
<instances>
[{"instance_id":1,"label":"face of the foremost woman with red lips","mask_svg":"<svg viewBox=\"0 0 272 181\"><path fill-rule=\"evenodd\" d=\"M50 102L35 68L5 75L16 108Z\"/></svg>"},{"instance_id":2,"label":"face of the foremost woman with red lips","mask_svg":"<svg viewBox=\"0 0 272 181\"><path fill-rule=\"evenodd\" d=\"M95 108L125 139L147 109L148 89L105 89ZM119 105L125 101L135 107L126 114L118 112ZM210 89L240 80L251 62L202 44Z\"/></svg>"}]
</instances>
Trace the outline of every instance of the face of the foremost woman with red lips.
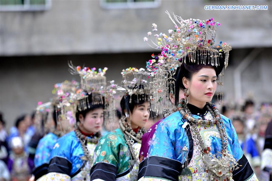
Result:
<instances>
[{"instance_id":1,"label":"face of the foremost woman with red lips","mask_svg":"<svg viewBox=\"0 0 272 181\"><path fill-rule=\"evenodd\" d=\"M204 67L194 73L191 80L183 78L185 88L189 88L189 103L203 108L210 102L216 90L216 73L212 67Z\"/></svg>"}]
</instances>

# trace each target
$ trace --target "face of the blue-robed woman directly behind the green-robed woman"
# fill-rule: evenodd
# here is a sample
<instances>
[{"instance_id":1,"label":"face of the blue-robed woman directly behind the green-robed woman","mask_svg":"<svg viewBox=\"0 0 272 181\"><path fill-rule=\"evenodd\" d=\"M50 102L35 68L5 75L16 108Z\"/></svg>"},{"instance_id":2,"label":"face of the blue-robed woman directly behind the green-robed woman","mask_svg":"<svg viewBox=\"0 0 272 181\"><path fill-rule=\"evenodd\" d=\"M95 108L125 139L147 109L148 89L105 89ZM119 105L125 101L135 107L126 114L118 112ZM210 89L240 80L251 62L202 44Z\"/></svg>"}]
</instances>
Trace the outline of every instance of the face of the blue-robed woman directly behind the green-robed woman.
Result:
<instances>
[{"instance_id":1,"label":"face of the blue-robed woman directly behind the green-robed woman","mask_svg":"<svg viewBox=\"0 0 272 181\"><path fill-rule=\"evenodd\" d=\"M79 114L79 121L81 122L80 129L86 133L96 133L101 131L104 121L104 111L102 108L96 108L88 112L83 118L82 114Z\"/></svg>"}]
</instances>

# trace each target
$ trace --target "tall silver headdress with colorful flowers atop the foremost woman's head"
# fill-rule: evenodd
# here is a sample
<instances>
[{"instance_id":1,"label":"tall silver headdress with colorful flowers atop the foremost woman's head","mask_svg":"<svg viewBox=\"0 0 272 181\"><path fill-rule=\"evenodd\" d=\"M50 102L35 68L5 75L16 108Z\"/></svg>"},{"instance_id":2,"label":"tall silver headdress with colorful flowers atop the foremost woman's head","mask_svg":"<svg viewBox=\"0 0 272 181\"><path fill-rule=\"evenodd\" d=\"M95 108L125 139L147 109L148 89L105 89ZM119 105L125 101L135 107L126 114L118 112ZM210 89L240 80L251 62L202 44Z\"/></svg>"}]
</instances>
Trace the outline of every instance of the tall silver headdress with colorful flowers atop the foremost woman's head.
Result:
<instances>
[{"instance_id":1,"label":"tall silver headdress with colorful flowers atop the foremost woman's head","mask_svg":"<svg viewBox=\"0 0 272 181\"><path fill-rule=\"evenodd\" d=\"M157 61L164 60L169 64L180 65L184 62L184 57L189 54L191 62L205 64L206 62L195 58L196 54L201 54L201 56L209 56L212 65L218 65L219 57L225 53L225 68L227 67L228 53L232 47L227 43L222 44L222 41L218 45L215 44L215 27L221 25L219 22L213 18L205 21L192 18L183 20L175 14L172 17L168 11L166 13L174 23L175 29L168 30L169 36L165 33L155 34L155 40L152 40L151 32L148 32L150 38L145 38L145 41L151 41L151 44L148 43L149 46L160 49L161 53L157 55ZM153 67L155 66L147 68L155 72Z\"/></svg>"}]
</instances>

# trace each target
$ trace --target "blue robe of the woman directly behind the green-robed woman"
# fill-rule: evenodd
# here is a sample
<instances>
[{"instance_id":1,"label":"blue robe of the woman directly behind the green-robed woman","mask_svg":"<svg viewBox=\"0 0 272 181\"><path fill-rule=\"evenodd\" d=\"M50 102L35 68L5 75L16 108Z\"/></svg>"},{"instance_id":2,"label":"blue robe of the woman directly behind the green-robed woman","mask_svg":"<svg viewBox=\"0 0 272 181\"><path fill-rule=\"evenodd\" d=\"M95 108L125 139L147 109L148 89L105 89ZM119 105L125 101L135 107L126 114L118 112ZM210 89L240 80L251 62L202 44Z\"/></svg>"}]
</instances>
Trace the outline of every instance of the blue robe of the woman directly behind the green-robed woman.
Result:
<instances>
[{"instance_id":1,"label":"blue robe of the woman directly behind the green-robed woman","mask_svg":"<svg viewBox=\"0 0 272 181\"><path fill-rule=\"evenodd\" d=\"M86 135L92 138L94 135ZM87 143L89 154L92 156L96 148L95 143ZM85 156L81 143L76 136L75 131L67 133L60 137L54 145L50 154L50 165L48 168L47 178L56 180L84 180L83 168L89 164L82 158ZM87 179L89 180L87 174Z\"/></svg>"}]
</instances>

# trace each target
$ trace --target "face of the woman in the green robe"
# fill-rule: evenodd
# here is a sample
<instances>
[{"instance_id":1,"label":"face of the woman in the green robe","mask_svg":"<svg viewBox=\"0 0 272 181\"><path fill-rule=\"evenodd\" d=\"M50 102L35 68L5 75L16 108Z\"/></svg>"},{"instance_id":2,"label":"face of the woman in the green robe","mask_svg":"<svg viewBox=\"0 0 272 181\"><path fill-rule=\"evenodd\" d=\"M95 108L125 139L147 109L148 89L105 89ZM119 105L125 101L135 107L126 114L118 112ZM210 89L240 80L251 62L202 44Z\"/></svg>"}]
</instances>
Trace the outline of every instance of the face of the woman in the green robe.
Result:
<instances>
[{"instance_id":1,"label":"face of the woman in the green robe","mask_svg":"<svg viewBox=\"0 0 272 181\"><path fill-rule=\"evenodd\" d=\"M138 127L144 127L150 116L148 101L143 104L134 106L132 113L129 113L129 119L131 121L131 128L136 129Z\"/></svg>"}]
</instances>

